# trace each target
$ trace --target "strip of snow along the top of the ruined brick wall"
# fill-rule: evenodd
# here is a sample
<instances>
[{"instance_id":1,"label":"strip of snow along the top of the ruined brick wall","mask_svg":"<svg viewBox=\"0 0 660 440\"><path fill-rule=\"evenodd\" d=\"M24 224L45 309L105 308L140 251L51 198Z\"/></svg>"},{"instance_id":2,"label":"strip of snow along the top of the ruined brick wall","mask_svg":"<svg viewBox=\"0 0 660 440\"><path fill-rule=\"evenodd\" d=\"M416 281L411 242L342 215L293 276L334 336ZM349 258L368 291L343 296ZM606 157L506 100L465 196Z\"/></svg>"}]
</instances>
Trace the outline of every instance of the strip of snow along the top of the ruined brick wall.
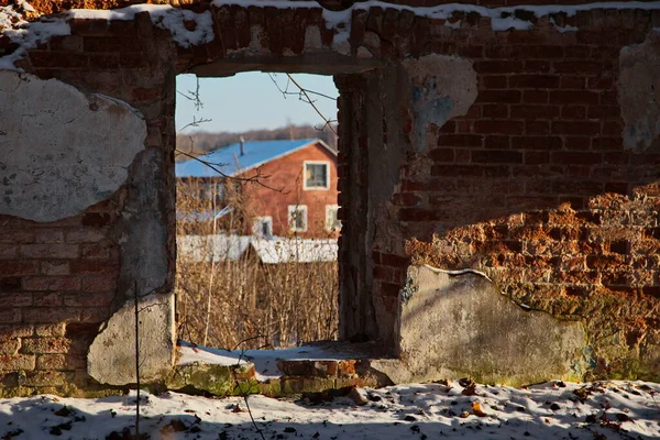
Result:
<instances>
[{"instance_id":1,"label":"strip of snow along the top of the ruined brick wall","mask_svg":"<svg viewBox=\"0 0 660 440\"><path fill-rule=\"evenodd\" d=\"M539 4L539 6L516 6L486 8L475 4L448 3L436 7L409 7L404 4L393 4L378 0L369 0L354 3L343 11L329 11L318 1L293 1L293 0L213 0L213 7L234 4L240 7L273 7L278 9L297 8L318 8L323 10L323 19L328 29L337 30L333 38L333 46L345 43L351 31L351 18L354 10L369 10L373 7L383 9L396 9L411 11L418 16L430 19L450 19L455 12L476 13L491 19L493 31L519 30L525 31L534 28L534 23L522 20L516 15L517 11L532 13L536 16L543 16L554 13L565 13L573 16L581 11L594 9L640 9L640 10L660 10L660 1L613 1L594 2L585 4ZM15 9L14 9L15 8ZM0 8L0 33L9 37L11 42L20 47L10 55L0 57L0 69L16 69L14 63L22 58L25 51L36 47L37 44L47 42L52 36L68 35L70 29L68 20L70 19L105 19L111 20L133 20L139 12L148 12L154 25L170 32L173 40L184 47L209 43L215 38L212 28L212 16L209 11L195 13L189 10L173 8L170 6L156 4L136 4L114 10L84 10L74 9L58 16L42 16L38 21L28 23L22 20L18 10L32 10L29 3L21 0L16 6ZM186 23L195 22L194 26L186 26ZM553 23L554 24L554 23ZM455 28L457 23L448 23L448 26ZM576 28L560 28L554 25L559 32L574 32ZM193 30L190 30L193 28Z\"/></svg>"}]
</instances>

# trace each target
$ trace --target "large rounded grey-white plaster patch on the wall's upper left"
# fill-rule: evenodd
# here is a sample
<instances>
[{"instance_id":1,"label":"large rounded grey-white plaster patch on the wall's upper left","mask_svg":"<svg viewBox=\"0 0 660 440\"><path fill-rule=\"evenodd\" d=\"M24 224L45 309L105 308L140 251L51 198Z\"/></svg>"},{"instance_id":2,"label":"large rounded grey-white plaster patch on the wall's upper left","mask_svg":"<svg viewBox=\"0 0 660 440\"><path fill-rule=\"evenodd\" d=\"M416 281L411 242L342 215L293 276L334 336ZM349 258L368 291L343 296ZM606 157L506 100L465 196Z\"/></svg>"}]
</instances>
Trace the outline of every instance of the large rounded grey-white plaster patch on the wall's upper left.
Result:
<instances>
[{"instance_id":1,"label":"large rounded grey-white plaster patch on the wall's upper left","mask_svg":"<svg viewBox=\"0 0 660 440\"><path fill-rule=\"evenodd\" d=\"M0 213L42 222L114 194L146 138L128 103L15 72L0 72Z\"/></svg>"}]
</instances>

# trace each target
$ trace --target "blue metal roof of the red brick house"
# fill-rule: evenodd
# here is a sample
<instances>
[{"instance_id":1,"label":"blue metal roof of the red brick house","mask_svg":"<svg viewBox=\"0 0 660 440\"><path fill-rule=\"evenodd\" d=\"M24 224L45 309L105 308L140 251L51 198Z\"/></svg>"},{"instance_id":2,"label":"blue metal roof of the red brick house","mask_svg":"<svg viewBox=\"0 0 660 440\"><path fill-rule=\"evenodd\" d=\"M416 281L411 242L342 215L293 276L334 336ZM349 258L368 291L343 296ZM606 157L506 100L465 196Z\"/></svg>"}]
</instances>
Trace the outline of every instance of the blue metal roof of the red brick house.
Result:
<instances>
[{"instance_id":1,"label":"blue metal roof of the red brick house","mask_svg":"<svg viewBox=\"0 0 660 440\"><path fill-rule=\"evenodd\" d=\"M300 150L317 139L299 139L295 141L246 141L241 156L241 144L235 143L209 152L200 160L208 162L228 176L255 168L275 158ZM238 163L237 163L238 162ZM189 160L176 164L176 177L212 177L218 173L199 161Z\"/></svg>"}]
</instances>

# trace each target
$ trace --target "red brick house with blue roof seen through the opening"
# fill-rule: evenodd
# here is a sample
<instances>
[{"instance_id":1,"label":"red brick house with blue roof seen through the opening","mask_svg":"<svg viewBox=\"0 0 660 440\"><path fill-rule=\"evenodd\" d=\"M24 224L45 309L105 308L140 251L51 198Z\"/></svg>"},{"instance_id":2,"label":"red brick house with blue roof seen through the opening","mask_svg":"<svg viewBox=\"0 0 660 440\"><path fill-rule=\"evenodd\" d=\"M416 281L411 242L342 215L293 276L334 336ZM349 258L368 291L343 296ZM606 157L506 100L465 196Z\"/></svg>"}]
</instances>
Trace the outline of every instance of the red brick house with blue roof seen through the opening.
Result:
<instances>
[{"instance_id":1,"label":"red brick house with blue roof seen through the opening","mask_svg":"<svg viewBox=\"0 0 660 440\"><path fill-rule=\"evenodd\" d=\"M216 198L216 218L240 211L239 233L337 238L337 152L318 139L239 142L176 164L178 185ZM220 174L220 173L221 174ZM232 180L228 177L255 179ZM227 185L240 196L227 195ZM240 201L238 201L240 199ZM237 206L242 205L242 206ZM199 216L201 220L211 216ZM220 221L220 229L227 222Z\"/></svg>"}]
</instances>

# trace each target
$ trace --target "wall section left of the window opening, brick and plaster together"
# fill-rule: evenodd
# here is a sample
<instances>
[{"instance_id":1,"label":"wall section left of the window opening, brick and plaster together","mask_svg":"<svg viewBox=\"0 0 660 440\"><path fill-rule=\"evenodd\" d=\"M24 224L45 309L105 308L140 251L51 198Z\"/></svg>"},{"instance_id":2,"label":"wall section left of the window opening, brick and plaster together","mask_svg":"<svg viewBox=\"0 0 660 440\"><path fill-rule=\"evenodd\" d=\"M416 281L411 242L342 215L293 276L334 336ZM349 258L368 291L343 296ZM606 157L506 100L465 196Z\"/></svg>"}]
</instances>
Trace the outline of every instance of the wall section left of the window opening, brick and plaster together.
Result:
<instances>
[{"instance_id":1,"label":"wall section left of the window opening, brick and plaster together","mask_svg":"<svg viewBox=\"0 0 660 440\"><path fill-rule=\"evenodd\" d=\"M157 334L161 349L144 352L156 360L146 372L172 363L174 46L148 16L139 21L73 24L73 35L22 59L34 76L2 72L3 86L16 84L2 88L12 124L0 142L16 154L1 172L12 196L0 216L1 393L118 384L103 367L132 382L119 363L88 355L135 286L162 318L153 324L154 308L142 311L142 345ZM120 329L109 326L97 345L132 337Z\"/></svg>"}]
</instances>

